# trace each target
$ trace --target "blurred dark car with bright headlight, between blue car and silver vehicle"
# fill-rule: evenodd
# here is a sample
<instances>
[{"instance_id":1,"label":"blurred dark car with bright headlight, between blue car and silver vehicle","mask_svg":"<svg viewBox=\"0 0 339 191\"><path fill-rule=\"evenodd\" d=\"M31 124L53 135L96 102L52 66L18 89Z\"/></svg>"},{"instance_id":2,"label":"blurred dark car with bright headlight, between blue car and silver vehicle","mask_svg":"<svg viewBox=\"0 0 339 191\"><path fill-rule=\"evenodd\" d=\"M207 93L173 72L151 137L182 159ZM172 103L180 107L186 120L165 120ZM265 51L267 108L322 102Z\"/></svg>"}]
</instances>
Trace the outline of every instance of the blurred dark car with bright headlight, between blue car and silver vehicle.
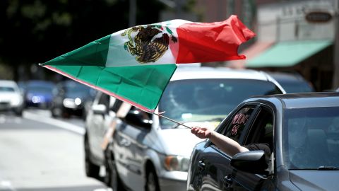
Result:
<instances>
[{"instance_id":1,"label":"blurred dark car with bright headlight, between blue car and silver vehicle","mask_svg":"<svg viewBox=\"0 0 339 191\"><path fill-rule=\"evenodd\" d=\"M93 103L95 90L73 80L57 83L53 90L51 112L53 117L83 117Z\"/></svg>"}]
</instances>

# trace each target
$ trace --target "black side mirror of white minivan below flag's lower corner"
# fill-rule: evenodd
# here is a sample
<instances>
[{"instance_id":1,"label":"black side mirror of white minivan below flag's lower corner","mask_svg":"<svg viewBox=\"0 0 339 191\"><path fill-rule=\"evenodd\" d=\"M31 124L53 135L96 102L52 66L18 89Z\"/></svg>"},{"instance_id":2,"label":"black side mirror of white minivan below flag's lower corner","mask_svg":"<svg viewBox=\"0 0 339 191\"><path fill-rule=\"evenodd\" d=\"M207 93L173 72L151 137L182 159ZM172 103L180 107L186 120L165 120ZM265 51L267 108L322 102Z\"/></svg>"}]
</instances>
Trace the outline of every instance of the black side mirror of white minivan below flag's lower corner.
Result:
<instances>
[{"instance_id":1,"label":"black side mirror of white minivan below flag's lower corner","mask_svg":"<svg viewBox=\"0 0 339 191\"><path fill-rule=\"evenodd\" d=\"M129 110L124 121L133 126L150 128L152 126L153 121L149 120L144 114L147 113L140 111L140 110Z\"/></svg>"}]
</instances>

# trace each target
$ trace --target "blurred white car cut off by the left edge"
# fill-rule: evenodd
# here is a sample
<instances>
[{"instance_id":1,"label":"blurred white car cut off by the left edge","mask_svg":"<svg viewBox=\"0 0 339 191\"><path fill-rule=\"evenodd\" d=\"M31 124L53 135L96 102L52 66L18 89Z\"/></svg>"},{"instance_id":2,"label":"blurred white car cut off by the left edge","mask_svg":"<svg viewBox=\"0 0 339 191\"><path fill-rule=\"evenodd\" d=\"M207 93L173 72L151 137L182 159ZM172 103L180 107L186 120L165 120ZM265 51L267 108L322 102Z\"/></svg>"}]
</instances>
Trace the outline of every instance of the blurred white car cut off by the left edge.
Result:
<instances>
[{"instance_id":1,"label":"blurred white car cut off by the left edge","mask_svg":"<svg viewBox=\"0 0 339 191\"><path fill-rule=\"evenodd\" d=\"M0 80L0 110L23 114L23 96L15 81Z\"/></svg>"}]
</instances>

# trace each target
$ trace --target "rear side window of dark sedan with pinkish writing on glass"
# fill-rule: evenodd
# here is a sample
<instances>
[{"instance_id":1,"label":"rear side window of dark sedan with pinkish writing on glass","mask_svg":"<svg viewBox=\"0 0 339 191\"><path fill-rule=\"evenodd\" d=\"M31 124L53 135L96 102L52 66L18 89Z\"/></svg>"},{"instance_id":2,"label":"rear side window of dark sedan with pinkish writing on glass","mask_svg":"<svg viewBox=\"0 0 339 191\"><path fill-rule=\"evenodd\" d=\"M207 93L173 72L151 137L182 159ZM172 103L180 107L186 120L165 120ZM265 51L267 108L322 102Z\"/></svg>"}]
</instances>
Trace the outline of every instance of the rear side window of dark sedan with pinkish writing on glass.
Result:
<instances>
[{"instance_id":1,"label":"rear side window of dark sedan with pinkish writing on glass","mask_svg":"<svg viewBox=\"0 0 339 191\"><path fill-rule=\"evenodd\" d=\"M234 141L239 141L244 128L246 127L249 118L251 117L252 112L254 111L254 106L246 106L239 110L230 121L229 125L226 128L225 136L230 137Z\"/></svg>"}]
</instances>

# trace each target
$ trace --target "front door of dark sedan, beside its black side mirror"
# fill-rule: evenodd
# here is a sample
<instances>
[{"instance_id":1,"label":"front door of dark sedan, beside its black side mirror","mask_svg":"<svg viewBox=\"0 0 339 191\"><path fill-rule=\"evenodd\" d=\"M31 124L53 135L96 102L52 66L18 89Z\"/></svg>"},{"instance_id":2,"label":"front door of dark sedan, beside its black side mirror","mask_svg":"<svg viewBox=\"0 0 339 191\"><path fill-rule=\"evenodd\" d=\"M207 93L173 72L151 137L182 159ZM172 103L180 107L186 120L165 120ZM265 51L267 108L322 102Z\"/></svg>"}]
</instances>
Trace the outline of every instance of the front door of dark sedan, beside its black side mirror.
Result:
<instances>
[{"instance_id":1,"label":"front door of dark sedan, beside its black side mirror","mask_svg":"<svg viewBox=\"0 0 339 191\"><path fill-rule=\"evenodd\" d=\"M273 185L273 163L274 163L274 146L273 146L273 132L274 132L274 112L268 105L261 105L256 113L254 119L245 132L244 145L265 143L270 147L273 155L267 156L269 160L266 175L259 175L253 173L246 173L241 170L232 169L232 173L227 175L230 183L230 190L275 190Z\"/></svg>"}]
</instances>

